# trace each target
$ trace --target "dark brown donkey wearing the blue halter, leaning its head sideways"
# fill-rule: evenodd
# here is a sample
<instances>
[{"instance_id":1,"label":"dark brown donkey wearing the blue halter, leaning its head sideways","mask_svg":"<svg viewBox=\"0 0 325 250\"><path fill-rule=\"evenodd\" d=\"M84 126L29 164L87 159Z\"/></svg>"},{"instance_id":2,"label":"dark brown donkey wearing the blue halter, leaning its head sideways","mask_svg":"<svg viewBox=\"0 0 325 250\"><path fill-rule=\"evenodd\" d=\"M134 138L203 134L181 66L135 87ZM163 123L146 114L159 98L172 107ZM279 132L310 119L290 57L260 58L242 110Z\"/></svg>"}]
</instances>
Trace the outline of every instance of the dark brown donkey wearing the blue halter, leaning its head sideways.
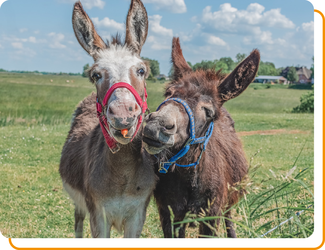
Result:
<instances>
[{"instance_id":1,"label":"dark brown donkey wearing the blue halter, leaning its head sideways","mask_svg":"<svg viewBox=\"0 0 325 250\"><path fill-rule=\"evenodd\" d=\"M188 211L195 214L201 212L201 208L206 211L209 202L212 203L214 199L208 216L219 216L221 209L225 211L238 202L238 194L230 195L227 185L240 181L247 173L248 164L234 130L234 121L222 105L248 87L256 75L259 61L260 55L255 49L228 76L214 69L193 72L183 57L179 39L173 38L174 78L166 86L165 100L179 98L188 104L194 115L196 138L204 137L212 121L214 129L206 151L195 168L172 163L167 173L159 173L154 197L165 238L172 237L168 205L173 209L174 221L177 222L184 219ZM169 161L186 146L190 136L190 120L181 103L169 100L158 111L149 114L146 123L142 140L146 150L156 154L158 172L161 162ZM190 145L187 154L176 160L176 164L195 163L200 154L200 144ZM227 213L227 217L230 218L230 213ZM211 225L214 222L210 221ZM228 237L236 238L233 224L228 220L226 222ZM212 231L201 223L200 234L212 235ZM185 237L184 228L179 230L179 237Z\"/></svg>"}]
</instances>

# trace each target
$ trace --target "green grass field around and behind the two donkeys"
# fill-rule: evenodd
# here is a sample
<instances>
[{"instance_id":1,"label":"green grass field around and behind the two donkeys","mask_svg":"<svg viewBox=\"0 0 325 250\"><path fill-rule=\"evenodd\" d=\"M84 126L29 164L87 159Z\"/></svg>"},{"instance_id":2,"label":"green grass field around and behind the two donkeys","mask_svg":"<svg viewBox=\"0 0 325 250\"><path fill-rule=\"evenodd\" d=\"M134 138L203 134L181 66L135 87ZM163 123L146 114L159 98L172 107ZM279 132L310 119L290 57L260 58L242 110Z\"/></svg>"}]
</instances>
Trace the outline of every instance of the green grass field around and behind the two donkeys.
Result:
<instances>
[{"instance_id":1,"label":"green grass field around and behind the two donkeys","mask_svg":"<svg viewBox=\"0 0 325 250\"><path fill-rule=\"evenodd\" d=\"M283 87L265 88L254 83L225 104L235 120L237 132L278 129L299 132L240 137L251 169L249 181L244 183L248 191L246 199L233 209L239 238L265 233L290 217L292 211L298 211L286 207L306 206L313 200L313 172L304 169L314 162L311 133L314 115L289 113L288 110L299 104L300 96L307 90ZM95 88L79 76L18 73L0 73L0 88L2 237L73 238L74 205L62 189L59 160L72 112ZM151 112L163 100L162 91L161 82L147 81ZM296 168L288 173L293 166ZM278 209L272 210L276 207ZM294 218L291 224L284 224L267 237L310 238L312 223L312 211L305 211L299 220ZM152 200L141 238L162 238L159 225L157 208ZM197 229L187 229L187 237L197 235ZM217 236L225 237L222 223ZM85 219L84 237L91 238L89 216ZM113 230L111 237L121 238L123 235Z\"/></svg>"}]
</instances>

